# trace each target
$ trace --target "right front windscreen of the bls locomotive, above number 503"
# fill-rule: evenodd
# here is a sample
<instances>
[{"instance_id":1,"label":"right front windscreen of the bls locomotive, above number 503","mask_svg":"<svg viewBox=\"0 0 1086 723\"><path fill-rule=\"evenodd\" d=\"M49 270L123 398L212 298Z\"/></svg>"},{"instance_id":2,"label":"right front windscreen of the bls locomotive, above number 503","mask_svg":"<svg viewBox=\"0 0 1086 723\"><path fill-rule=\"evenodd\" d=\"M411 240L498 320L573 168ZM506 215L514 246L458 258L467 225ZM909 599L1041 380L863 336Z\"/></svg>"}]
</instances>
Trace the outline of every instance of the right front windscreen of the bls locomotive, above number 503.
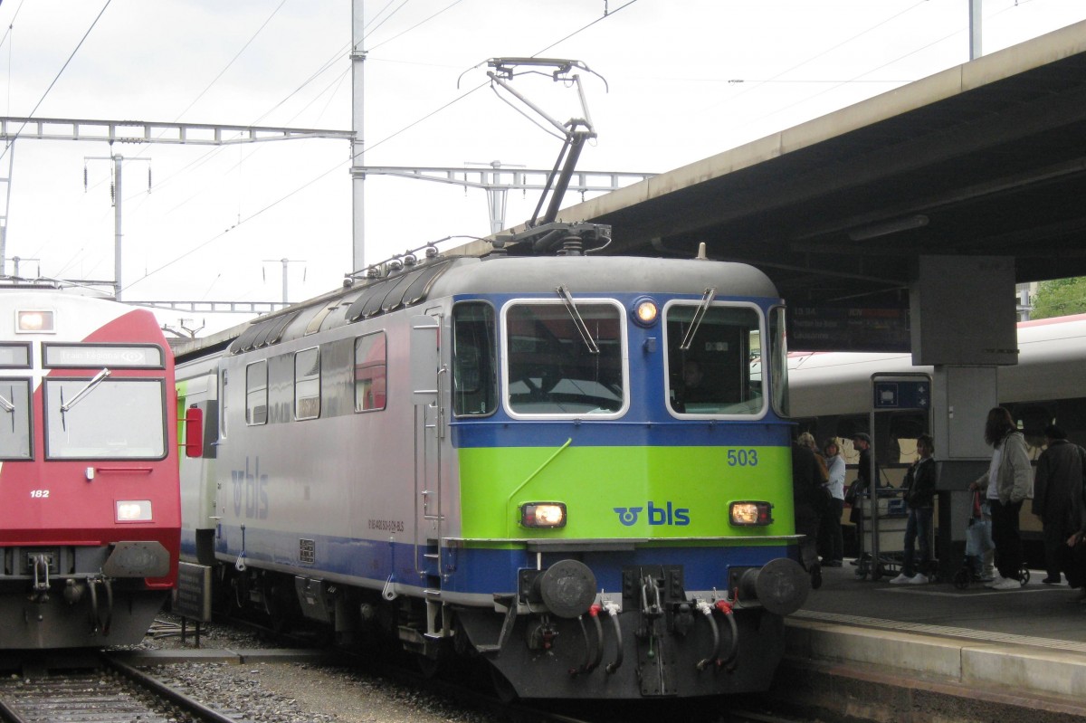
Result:
<instances>
[{"instance_id":1,"label":"right front windscreen of the bls locomotive, above number 503","mask_svg":"<svg viewBox=\"0 0 1086 723\"><path fill-rule=\"evenodd\" d=\"M668 404L679 415L760 415L761 315L754 306L665 309Z\"/></svg>"}]
</instances>

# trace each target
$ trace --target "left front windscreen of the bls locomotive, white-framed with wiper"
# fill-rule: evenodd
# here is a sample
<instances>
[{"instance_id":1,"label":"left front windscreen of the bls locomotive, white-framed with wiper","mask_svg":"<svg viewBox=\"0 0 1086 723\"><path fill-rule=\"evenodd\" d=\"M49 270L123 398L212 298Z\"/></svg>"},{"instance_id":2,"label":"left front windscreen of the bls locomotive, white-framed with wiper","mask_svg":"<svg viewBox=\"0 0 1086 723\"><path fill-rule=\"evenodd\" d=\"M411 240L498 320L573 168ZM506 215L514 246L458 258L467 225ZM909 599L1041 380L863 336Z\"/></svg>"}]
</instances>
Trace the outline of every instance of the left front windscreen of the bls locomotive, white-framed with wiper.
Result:
<instances>
[{"instance_id":1,"label":"left front windscreen of the bls locomotive, white-framed with wiper","mask_svg":"<svg viewBox=\"0 0 1086 723\"><path fill-rule=\"evenodd\" d=\"M613 302L515 302L503 312L513 416L618 417L627 402L623 310Z\"/></svg>"}]
</instances>

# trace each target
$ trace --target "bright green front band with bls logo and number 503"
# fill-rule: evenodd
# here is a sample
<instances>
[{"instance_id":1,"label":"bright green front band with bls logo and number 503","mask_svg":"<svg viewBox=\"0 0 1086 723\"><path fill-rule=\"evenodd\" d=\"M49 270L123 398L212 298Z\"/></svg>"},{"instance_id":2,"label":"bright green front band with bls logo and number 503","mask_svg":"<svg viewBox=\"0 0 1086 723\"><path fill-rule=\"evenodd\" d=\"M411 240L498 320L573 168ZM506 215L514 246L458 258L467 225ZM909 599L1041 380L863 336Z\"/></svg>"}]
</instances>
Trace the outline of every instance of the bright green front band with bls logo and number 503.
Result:
<instances>
[{"instance_id":1,"label":"bright green front band with bls logo and number 503","mask_svg":"<svg viewBox=\"0 0 1086 723\"><path fill-rule=\"evenodd\" d=\"M788 447L470 447L459 449L459 468L462 534L469 540L795 532ZM728 505L740 500L771 503L772 524L730 524ZM565 503L566 527L522 527L519 506L535 502Z\"/></svg>"}]
</instances>

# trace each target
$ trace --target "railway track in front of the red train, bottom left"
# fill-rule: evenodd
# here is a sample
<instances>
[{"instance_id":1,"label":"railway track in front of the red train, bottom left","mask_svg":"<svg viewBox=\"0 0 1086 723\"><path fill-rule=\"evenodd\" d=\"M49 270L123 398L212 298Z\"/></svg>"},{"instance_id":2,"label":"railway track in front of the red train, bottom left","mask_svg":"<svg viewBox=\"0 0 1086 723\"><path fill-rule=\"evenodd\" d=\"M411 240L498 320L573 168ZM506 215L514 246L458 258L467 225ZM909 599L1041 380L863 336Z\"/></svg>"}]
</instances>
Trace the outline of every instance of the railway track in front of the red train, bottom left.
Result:
<instances>
[{"instance_id":1,"label":"railway track in front of the red train, bottom left","mask_svg":"<svg viewBox=\"0 0 1086 723\"><path fill-rule=\"evenodd\" d=\"M121 661L100 670L0 682L0 719L9 723L239 723Z\"/></svg>"}]
</instances>

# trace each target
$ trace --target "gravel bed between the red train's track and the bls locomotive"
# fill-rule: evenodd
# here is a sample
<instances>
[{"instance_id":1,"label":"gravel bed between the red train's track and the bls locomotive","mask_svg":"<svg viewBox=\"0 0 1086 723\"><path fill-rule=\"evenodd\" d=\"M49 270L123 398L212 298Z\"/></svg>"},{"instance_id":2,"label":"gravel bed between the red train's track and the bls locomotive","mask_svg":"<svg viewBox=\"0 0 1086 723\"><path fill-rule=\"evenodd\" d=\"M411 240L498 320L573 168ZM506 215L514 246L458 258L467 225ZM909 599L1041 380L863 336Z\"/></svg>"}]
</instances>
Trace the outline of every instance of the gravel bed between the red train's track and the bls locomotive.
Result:
<instances>
[{"instance_id":1,"label":"gravel bed between the red train's track and the bls locomotive","mask_svg":"<svg viewBox=\"0 0 1086 723\"><path fill-rule=\"evenodd\" d=\"M178 622L165 614L160 620L164 625L152 629L137 648L193 646L191 637L182 646L177 636L160 636ZM282 646L258 635L207 624L201 626L200 647ZM302 662L188 662L157 665L148 672L207 706L252 723L498 723L453 701L349 668Z\"/></svg>"}]
</instances>

